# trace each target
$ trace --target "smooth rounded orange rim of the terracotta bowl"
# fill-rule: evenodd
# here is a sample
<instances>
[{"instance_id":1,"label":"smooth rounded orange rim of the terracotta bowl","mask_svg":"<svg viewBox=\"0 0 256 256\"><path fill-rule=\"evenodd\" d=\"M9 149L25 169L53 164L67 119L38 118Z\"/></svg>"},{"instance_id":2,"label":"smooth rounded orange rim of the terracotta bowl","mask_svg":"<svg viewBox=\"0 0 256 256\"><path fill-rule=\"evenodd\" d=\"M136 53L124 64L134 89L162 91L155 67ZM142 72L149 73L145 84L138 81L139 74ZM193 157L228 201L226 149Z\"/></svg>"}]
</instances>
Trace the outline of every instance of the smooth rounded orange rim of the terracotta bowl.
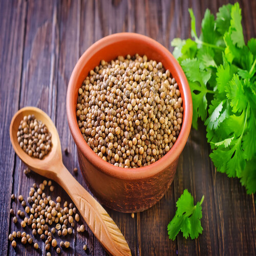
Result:
<instances>
[{"instance_id":1,"label":"smooth rounded orange rim of the terracotta bowl","mask_svg":"<svg viewBox=\"0 0 256 256\"><path fill-rule=\"evenodd\" d=\"M73 95L74 93L76 94L76 92L74 92L73 90L73 86L75 84L76 77L78 77L78 74L81 72L81 70L84 67L84 60L90 59L99 49L104 48L107 45L113 44L114 42L116 43L118 41L124 41L124 40L144 41L147 44L151 45L153 48L155 49L157 48L158 52L161 52L162 55L165 56L165 58L168 58L169 61L173 63L173 68L175 69L177 76L179 76L179 79L180 79L179 87L180 88L182 87L183 95L184 95L183 97L184 112L183 112L183 121L182 121L181 131L173 147L169 150L167 154L165 154L162 158L160 158L156 162L150 165L138 167L138 168L123 168L123 167L115 166L101 159L87 144L87 142L83 139L77 124L76 111L75 109L72 110L74 106L74 101L72 100L73 98L72 94ZM108 35L99 39L92 46L90 46L79 58L79 60L77 61L74 67L74 70L72 71L69 84L68 84L66 101L67 101L66 110L67 110L68 123L69 123L70 131L78 151L80 151L87 158L87 160L90 161L91 164L93 164L94 166L97 166L102 173L112 177L119 178L119 179L139 180L139 179L149 178L149 177L155 176L156 174L160 173L162 170L167 168L172 162L174 162L180 156L186 144L186 141L190 132L190 128L191 128L191 123L192 123L193 107L192 107L191 92L189 89L186 76L181 66L179 65L179 62L175 59L172 53L170 53L168 49L162 46L159 42L157 42L156 40L150 37L137 34L137 33L122 32L122 33Z\"/></svg>"}]
</instances>

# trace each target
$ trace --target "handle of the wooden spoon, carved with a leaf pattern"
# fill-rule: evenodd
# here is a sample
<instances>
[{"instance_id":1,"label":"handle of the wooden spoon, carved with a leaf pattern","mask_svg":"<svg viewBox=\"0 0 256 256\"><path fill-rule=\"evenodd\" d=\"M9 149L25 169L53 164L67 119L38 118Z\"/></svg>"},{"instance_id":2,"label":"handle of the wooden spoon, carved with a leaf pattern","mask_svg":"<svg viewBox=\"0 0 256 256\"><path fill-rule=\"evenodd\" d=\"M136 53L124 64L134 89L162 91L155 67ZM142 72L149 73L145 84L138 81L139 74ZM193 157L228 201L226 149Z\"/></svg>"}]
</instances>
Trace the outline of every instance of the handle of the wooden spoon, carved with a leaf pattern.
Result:
<instances>
[{"instance_id":1,"label":"handle of the wooden spoon, carved with a leaf pattern","mask_svg":"<svg viewBox=\"0 0 256 256\"><path fill-rule=\"evenodd\" d=\"M111 255L131 255L123 234L108 212L78 183L63 164L56 178L105 250Z\"/></svg>"}]
</instances>

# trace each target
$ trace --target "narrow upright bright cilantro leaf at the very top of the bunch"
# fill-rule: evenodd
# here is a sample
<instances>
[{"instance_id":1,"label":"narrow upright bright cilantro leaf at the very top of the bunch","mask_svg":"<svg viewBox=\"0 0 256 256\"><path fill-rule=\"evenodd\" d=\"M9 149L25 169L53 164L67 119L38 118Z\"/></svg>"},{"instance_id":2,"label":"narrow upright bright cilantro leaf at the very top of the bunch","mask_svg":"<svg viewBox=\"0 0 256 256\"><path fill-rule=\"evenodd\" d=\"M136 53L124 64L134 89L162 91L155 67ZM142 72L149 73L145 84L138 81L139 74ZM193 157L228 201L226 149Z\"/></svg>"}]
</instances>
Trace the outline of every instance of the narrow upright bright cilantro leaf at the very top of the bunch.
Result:
<instances>
[{"instance_id":1,"label":"narrow upright bright cilantro leaf at the very top of the bunch","mask_svg":"<svg viewBox=\"0 0 256 256\"><path fill-rule=\"evenodd\" d=\"M245 45L241 20L241 9L239 7L239 3L236 3L231 8L230 37L233 41L233 44L237 45L240 48L242 48Z\"/></svg>"}]
</instances>

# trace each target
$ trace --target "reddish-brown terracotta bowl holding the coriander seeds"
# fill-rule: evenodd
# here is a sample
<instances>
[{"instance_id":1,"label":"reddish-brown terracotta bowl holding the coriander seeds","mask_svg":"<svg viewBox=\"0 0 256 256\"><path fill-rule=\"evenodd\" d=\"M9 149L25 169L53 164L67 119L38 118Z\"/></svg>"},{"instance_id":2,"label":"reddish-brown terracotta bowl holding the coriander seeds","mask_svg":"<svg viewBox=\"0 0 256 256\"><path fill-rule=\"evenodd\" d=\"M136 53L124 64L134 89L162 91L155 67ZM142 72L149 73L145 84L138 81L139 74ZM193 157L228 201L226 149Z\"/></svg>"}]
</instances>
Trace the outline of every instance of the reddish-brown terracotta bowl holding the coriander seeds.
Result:
<instances>
[{"instance_id":1,"label":"reddish-brown terracotta bowl holding the coriander seeds","mask_svg":"<svg viewBox=\"0 0 256 256\"><path fill-rule=\"evenodd\" d=\"M84 141L76 120L76 103L79 87L101 59L110 61L118 55L136 53L161 61L170 71L178 82L184 113L177 141L165 156L151 165L126 169L105 162ZM192 121L192 99L187 79L178 61L166 48L150 37L135 33L113 34L95 42L83 53L72 72L67 92L67 115L81 172L102 204L117 211L137 212L151 207L163 197L174 179Z\"/></svg>"}]
</instances>

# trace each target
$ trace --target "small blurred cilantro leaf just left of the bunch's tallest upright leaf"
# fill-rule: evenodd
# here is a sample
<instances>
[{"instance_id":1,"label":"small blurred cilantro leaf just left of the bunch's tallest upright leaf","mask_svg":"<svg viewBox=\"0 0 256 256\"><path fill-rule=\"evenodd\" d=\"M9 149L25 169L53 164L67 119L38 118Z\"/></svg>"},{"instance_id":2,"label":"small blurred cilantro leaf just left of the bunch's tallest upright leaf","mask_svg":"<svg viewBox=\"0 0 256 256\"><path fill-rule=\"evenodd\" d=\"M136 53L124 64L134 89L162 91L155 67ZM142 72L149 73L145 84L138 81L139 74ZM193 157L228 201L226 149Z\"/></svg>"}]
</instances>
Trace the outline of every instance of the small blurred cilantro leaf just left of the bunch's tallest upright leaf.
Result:
<instances>
[{"instance_id":1,"label":"small blurred cilantro leaf just left of the bunch's tallest upright leaf","mask_svg":"<svg viewBox=\"0 0 256 256\"><path fill-rule=\"evenodd\" d=\"M217 30L224 35L228 31L231 19L231 4L223 5L219 8L219 12L216 14L216 27Z\"/></svg>"}]
</instances>

